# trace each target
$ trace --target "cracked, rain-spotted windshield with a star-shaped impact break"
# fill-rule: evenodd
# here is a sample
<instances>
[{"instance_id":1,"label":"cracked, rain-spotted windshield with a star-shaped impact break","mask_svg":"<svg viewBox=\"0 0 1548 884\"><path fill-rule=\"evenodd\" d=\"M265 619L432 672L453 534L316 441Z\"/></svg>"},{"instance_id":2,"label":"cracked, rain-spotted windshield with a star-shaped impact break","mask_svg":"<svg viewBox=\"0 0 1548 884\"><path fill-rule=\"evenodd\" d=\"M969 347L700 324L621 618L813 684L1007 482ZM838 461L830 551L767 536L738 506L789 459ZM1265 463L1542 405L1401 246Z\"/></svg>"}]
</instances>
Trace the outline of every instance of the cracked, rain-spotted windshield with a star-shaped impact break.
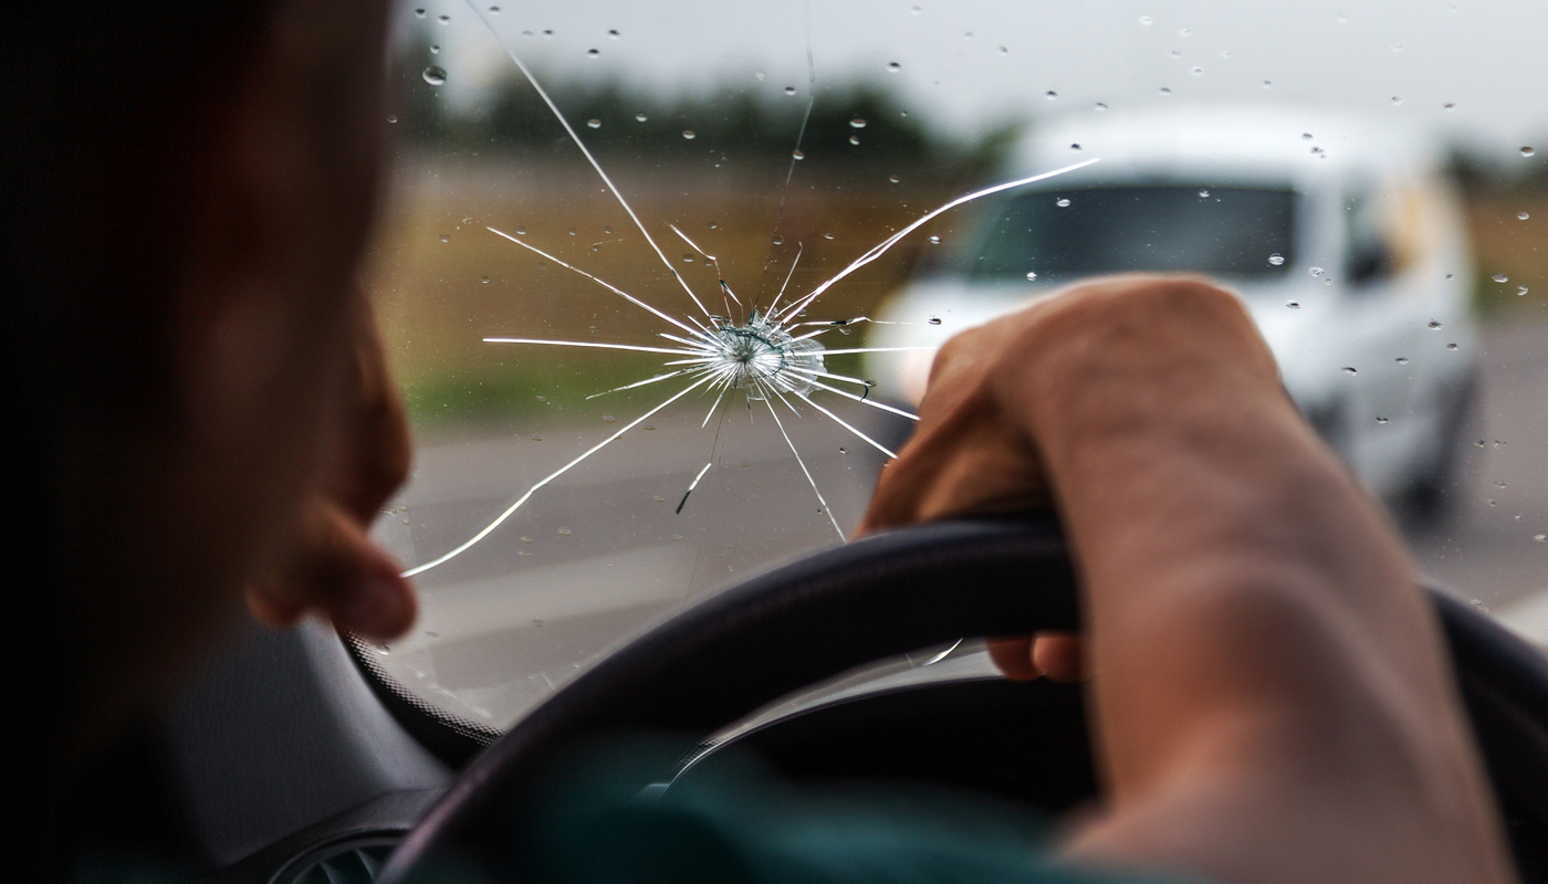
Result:
<instances>
[{"instance_id":1,"label":"cracked, rain-spotted windshield with a star-shaped impact break","mask_svg":"<svg viewBox=\"0 0 1548 884\"><path fill-rule=\"evenodd\" d=\"M1548 636L1531 3L412 3L365 282L423 593L378 663L506 728L853 534L954 333L1240 293L1424 573ZM933 658L932 658L933 660Z\"/></svg>"}]
</instances>

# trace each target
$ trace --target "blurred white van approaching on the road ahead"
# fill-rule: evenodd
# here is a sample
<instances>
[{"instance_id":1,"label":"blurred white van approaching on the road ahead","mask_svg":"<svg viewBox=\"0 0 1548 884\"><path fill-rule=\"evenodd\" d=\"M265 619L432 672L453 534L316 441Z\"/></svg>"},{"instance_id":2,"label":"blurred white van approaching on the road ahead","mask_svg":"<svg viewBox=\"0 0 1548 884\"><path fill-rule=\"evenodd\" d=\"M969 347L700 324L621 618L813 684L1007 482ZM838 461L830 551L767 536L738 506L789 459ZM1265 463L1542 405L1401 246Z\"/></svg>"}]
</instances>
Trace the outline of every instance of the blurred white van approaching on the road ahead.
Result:
<instances>
[{"instance_id":1,"label":"blurred white van approaching on the road ahead","mask_svg":"<svg viewBox=\"0 0 1548 884\"><path fill-rule=\"evenodd\" d=\"M1081 277L1203 272L1240 293L1289 393L1372 489L1440 502L1478 356L1461 204L1435 139L1294 110L1093 110L1039 124L1000 176L1091 156L969 209L887 299L878 319L898 325L873 325L870 345L937 345ZM872 355L867 368L878 392L916 403L930 359Z\"/></svg>"}]
</instances>

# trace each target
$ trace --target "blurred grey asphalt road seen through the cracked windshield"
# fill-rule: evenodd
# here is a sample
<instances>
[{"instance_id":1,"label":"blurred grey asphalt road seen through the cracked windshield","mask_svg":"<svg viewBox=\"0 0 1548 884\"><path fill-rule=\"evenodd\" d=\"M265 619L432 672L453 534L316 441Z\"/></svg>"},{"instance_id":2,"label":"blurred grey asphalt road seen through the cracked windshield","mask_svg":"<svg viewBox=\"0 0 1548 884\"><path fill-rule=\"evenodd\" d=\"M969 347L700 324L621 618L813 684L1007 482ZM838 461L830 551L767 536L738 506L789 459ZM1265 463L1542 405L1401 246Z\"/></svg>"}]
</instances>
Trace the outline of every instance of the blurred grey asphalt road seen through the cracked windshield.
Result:
<instances>
[{"instance_id":1,"label":"blurred grey asphalt road seen through the cracked windshield","mask_svg":"<svg viewBox=\"0 0 1548 884\"><path fill-rule=\"evenodd\" d=\"M1409 526L1409 540L1429 579L1548 642L1548 540L1537 539L1548 534L1548 325L1497 324L1481 341L1485 446L1471 452L1454 509ZM443 432L420 446L376 536L404 562L426 562L661 398ZM839 542L825 509L848 533L882 457L810 409L776 424L766 406L752 406L701 427L707 401L689 399L540 488L480 545L420 577L421 622L379 649L381 663L443 709L505 726L683 605ZM884 444L907 432L901 418L859 404L831 407Z\"/></svg>"}]
</instances>

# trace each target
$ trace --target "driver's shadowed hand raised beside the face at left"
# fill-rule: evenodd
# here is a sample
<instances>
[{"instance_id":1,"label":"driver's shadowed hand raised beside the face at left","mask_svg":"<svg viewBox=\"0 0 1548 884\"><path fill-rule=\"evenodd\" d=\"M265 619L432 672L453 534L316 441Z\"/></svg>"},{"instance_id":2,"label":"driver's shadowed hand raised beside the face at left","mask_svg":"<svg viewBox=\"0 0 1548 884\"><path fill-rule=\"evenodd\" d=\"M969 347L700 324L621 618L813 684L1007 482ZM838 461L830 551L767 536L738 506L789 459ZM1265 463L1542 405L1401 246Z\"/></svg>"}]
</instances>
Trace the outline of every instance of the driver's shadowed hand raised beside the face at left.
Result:
<instances>
[{"instance_id":1,"label":"driver's shadowed hand raised beside the face at left","mask_svg":"<svg viewBox=\"0 0 1548 884\"><path fill-rule=\"evenodd\" d=\"M370 525L409 474L409 427L387 373L376 317L361 291L351 316L350 385L336 421L330 468L303 502L285 553L248 587L248 607L269 625L308 610L367 638L402 635L418 610L399 565Z\"/></svg>"}]
</instances>

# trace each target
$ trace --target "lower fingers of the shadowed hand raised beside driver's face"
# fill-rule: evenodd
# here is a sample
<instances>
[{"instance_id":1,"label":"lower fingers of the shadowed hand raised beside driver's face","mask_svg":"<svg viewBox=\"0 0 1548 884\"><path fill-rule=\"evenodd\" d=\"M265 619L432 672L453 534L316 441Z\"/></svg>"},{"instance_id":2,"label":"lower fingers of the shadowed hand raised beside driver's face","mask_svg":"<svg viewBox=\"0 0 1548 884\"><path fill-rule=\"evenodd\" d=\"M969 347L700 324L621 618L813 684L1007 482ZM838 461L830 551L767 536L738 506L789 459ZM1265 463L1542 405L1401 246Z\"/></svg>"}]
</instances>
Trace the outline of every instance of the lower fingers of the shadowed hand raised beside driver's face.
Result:
<instances>
[{"instance_id":1,"label":"lower fingers of the shadowed hand raised beside driver's face","mask_svg":"<svg viewBox=\"0 0 1548 884\"><path fill-rule=\"evenodd\" d=\"M317 502L285 567L248 588L248 607L271 625L289 625L308 610L319 610L339 629L395 638L413 625L418 613L413 588L398 570L356 519L337 505Z\"/></svg>"}]
</instances>

